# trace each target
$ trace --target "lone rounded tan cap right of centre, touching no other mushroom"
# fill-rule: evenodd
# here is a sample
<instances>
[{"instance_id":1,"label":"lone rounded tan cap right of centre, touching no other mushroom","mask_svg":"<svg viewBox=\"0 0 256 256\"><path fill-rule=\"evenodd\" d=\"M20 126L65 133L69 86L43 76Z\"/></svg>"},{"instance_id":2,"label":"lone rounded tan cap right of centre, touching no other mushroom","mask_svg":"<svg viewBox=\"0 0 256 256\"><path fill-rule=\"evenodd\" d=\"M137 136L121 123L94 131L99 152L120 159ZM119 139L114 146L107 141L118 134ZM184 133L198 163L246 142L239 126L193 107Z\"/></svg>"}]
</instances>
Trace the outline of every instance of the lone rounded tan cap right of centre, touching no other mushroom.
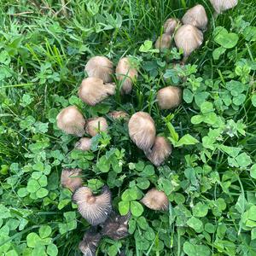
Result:
<instances>
[{"instance_id":1,"label":"lone rounded tan cap right of centre, touching no other mushroom","mask_svg":"<svg viewBox=\"0 0 256 256\"><path fill-rule=\"evenodd\" d=\"M176 108L182 102L182 90L176 86L160 89L156 96L161 109Z\"/></svg>"}]
</instances>

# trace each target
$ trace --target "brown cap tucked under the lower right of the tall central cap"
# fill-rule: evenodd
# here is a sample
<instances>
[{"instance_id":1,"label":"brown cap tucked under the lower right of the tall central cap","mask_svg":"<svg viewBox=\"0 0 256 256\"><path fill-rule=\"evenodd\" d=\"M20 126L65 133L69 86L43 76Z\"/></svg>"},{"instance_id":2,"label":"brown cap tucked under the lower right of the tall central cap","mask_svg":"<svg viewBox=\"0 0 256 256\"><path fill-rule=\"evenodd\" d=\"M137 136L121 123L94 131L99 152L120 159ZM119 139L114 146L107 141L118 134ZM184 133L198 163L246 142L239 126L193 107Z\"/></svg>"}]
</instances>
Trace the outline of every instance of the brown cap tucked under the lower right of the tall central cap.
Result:
<instances>
[{"instance_id":1,"label":"brown cap tucked under the lower right of the tall central cap","mask_svg":"<svg viewBox=\"0 0 256 256\"><path fill-rule=\"evenodd\" d=\"M151 152L146 153L146 156L154 166L160 166L170 154L172 154L171 144L165 137L157 136Z\"/></svg>"}]
</instances>

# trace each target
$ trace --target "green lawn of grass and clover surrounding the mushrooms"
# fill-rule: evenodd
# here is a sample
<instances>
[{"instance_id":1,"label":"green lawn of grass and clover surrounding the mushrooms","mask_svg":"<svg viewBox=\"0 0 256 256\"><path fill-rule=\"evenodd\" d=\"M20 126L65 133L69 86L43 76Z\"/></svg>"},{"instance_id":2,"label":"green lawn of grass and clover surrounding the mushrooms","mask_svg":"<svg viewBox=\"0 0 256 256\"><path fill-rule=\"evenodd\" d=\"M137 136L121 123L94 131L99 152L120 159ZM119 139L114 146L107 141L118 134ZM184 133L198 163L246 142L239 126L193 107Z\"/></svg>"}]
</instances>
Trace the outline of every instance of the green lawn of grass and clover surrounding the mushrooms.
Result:
<instances>
[{"instance_id":1,"label":"green lawn of grass and clover surrounding the mushrooms","mask_svg":"<svg viewBox=\"0 0 256 256\"><path fill-rule=\"evenodd\" d=\"M207 30L183 65L173 42L162 50L154 42L166 19L196 3L207 11ZM113 211L131 214L129 236L102 236L96 255L256 255L255 0L220 15L208 0L1 0L0 25L0 255L82 255L91 225L61 186L63 168L81 169L95 195L107 185ZM127 95L113 76L115 94L89 106L79 86L96 55L114 67L129 56L138 76ZM156 96L167 85L183 99L162 110ZM71 105L86 120L108 121L88 151L57 126ZM161 166L114 110L150 114L172 144ZM143 204L152 188L167 196L167 210Z\"/></svg>"}]
</instances>

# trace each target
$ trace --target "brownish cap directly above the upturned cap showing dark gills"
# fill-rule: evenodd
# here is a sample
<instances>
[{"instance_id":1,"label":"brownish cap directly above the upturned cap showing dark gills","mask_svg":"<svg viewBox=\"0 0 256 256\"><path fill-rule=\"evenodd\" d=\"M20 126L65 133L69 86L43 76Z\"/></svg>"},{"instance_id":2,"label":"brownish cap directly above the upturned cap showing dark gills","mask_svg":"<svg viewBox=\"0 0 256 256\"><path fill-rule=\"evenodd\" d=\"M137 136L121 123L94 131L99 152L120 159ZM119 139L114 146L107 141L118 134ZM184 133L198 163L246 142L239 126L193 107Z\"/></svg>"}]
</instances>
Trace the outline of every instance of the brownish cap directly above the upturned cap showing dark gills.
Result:
<instances>
[{"instance_id":1,"label":"brownish cap directly above the upturned cap showing dark gills","mask_svg":"<svg viewBox=\"0 0 256 256\"><path fill-rule=\"evenodd\" d=\"M83 180L81 177L81 169L63 169L61 172L61 185L64 188L74 191L83 186Z\"/></svg>"}]
</instances>

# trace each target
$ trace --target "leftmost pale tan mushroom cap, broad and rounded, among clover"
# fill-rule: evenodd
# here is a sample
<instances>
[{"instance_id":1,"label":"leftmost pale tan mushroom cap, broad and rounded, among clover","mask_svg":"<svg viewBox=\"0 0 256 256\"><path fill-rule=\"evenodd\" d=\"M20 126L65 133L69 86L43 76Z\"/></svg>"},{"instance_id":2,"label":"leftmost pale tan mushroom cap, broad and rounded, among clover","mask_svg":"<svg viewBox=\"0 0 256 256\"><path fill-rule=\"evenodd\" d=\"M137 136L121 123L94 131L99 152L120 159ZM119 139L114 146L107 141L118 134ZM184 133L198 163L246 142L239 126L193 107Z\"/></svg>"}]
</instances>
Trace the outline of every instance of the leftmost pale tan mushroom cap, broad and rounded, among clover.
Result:
<instances>
[{"instance_id":1,"label":"leftmost pale tan mushroom cap, broad and rounded, among clover","mask_svg":"<svg viewBox=\"0 0 256 256\"><path fill-rule=\"evenodd\" d=\"M85 119L77 107L69 106L62 109L56 119L57 126L62 131L79 137L84 135Z\"/></svg>"}]
</instances>

